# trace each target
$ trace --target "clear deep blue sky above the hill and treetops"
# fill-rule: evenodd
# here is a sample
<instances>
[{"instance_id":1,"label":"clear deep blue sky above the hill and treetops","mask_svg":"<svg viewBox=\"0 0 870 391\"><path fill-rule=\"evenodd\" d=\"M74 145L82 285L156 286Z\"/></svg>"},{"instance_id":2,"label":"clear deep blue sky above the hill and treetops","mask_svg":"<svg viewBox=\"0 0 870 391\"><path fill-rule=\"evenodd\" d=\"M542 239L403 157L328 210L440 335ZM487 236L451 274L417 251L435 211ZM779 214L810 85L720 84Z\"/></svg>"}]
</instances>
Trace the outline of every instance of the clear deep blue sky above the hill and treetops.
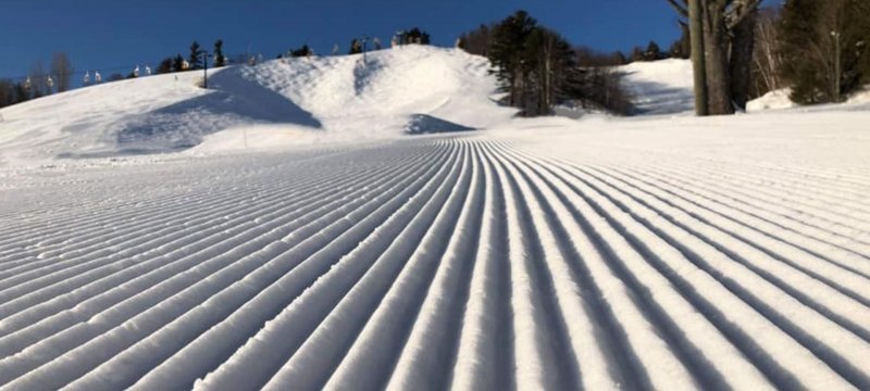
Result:
<instances>
[{"instance_id":1,"label":"clear deep blue sky above the hill and treetops","mask_svg":"<svg viewBox=\"0 0 870 391\"><path fill-rule=\"evenodd\" d=\"M0 0L0 77L26 75L35 61L66 52L77 72L150 64L187 54L192 40L227 54L250 50L274 58L308 43L327 53L368 34L385 43L420 26L435 45L481 23L524 9L574 45L629 50L679 35L664 0ZM130 70L124 70L128 73ZM105 75L108 76L108 75Z\"/></svg>"}]
</instances>

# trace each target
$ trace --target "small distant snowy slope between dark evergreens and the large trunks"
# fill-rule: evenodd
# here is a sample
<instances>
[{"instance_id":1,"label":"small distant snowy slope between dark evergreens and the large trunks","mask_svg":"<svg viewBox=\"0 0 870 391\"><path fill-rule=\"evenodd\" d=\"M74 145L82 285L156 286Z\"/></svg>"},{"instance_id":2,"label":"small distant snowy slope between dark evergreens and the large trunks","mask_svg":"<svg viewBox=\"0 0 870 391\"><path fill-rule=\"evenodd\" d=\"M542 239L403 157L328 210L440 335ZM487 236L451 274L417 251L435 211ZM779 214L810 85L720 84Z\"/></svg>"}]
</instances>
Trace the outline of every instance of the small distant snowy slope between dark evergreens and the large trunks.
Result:
<instances>
[{"instance_id":1,"label":"small distant snowy slope between dark evergreens and the large trunks","mask_svg":"<svg viewBox=\"0 0 870 391\"><path fill-rule=\"evenodd\" d=\"M635 62L617 67L633 97L638 114L661 115L692 112L695 108L692 62L669 59Z\"/></svg>"}]
</instances>

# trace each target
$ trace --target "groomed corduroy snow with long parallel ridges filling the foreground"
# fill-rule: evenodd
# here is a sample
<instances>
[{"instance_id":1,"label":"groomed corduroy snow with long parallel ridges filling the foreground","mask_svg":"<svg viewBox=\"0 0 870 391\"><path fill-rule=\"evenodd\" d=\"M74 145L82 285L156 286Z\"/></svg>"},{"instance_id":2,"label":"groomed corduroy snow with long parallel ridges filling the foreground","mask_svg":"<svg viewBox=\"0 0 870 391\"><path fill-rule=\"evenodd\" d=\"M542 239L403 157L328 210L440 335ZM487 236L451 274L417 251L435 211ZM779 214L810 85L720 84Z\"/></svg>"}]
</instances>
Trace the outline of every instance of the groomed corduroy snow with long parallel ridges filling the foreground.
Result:
<instances>
[{"instance_id":1,"label":"groomed corduroy snow with long parallel ridges filling the foreground","mask_svg":"<svg viewBox=\"0 0 870 391\"><path fill-rule=\"evenodd\" d=\"M870 388L866 133L546 131L16 177L0 389Z\"/></svg>"}]
</instances>

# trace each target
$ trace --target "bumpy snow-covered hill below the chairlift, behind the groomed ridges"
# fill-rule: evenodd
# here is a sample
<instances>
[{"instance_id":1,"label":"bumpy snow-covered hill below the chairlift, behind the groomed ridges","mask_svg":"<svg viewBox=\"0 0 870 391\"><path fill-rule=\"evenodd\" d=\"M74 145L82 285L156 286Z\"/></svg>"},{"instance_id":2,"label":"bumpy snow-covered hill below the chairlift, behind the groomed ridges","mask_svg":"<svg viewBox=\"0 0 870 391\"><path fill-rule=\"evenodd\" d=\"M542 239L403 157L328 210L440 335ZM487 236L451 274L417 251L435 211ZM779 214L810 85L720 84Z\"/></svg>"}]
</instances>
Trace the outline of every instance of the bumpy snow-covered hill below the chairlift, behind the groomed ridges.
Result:
<instances>
[{"instance_id":1,"label":"bumpy snow-covered hill below the chairlift, behind the groomed ridges","mask_svg":"<svg viewBox=\"0 0 870 391\"><path fill-rule=\"evenodd\" d=\"M104 84L3 109L0 164L166 152L199 146L291 144L396 137L426 124L505 122L489 96L488 62L459 50L409 46L366 55L273 60L258 66ZM240 133L246 129L246 135Z\"/></svg>"}]
</instances>

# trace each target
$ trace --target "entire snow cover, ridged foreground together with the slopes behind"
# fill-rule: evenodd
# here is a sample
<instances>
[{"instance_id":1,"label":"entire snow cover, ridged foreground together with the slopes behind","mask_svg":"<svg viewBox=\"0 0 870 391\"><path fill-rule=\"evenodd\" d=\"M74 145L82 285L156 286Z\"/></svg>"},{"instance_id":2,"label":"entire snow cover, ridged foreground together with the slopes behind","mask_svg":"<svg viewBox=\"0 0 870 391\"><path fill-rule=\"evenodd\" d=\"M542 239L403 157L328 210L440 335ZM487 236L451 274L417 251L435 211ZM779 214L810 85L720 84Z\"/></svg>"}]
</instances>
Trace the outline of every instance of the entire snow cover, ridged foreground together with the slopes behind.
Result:
<instances>
[{"instance_id":1,"label":"entire snow cover, ridged foreground together with the slopes behind","mask_svg":"<svg viewBox=\"0 0 870 391\"><path fill-rule=\"evenodd\" d=\"M870 389L861 103L696 118L672 61L669 115L520 119L362 61L3 109L0 390Z\"/></svg>"}]
</instances>

